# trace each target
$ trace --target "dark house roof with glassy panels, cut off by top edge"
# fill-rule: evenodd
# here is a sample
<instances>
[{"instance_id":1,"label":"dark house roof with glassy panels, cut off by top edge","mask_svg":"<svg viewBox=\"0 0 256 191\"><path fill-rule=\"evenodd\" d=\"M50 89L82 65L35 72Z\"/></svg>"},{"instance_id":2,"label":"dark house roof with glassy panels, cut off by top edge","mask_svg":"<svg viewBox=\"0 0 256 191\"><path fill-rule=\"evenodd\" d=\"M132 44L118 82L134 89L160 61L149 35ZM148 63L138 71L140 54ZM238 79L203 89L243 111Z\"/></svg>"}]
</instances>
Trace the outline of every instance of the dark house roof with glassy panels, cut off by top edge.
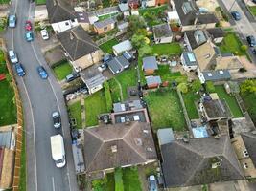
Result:
<instances>
[{"instance_id":1,"label":"dark house roof with glassy panels, cut off by top edge","mask_svg":"<svg viewBox=\"0 0 256 191\"><path fill-rule=\"evenodd\" d=\"M199 13L195 0L174 0L174 2L175 9L183 26L218 22L218 19L213 13ZM196 19L197 17L198 19Z\"/></svg>"}]
</instances>

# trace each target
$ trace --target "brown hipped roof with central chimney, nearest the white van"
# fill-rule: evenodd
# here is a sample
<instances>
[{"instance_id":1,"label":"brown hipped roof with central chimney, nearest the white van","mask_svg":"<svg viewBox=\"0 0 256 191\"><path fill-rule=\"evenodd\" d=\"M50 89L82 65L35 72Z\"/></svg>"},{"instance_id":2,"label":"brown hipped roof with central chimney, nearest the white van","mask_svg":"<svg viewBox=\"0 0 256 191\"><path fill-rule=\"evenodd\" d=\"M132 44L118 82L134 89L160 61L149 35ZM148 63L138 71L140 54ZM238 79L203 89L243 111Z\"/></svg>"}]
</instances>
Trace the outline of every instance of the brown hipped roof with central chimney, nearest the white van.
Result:
<instances>
[{"instance_id":1,"label":"brown hipped roof with central chimney, nearest the white van","mask_svg":"<svg viewBox=\"0 0 256 191\"><path fill-rule=\"evenodd\" d=\"M86 172L157 159L150 124L131 122L84 130L84 158Z\"/></svg>"}]
</instances>

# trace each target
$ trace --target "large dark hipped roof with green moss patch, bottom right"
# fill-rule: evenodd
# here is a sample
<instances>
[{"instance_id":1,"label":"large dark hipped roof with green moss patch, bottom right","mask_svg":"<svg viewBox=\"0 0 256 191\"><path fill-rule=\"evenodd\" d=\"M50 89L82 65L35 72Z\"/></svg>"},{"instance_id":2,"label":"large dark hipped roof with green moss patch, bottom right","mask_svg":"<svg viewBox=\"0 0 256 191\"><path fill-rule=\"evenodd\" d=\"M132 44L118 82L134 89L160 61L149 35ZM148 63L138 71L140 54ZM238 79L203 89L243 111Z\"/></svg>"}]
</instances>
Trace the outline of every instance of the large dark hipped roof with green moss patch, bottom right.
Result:
<instances>
[{"instance_id":1,"label":"large dark hipped roof with green moss patch, bottom right","mask_svg":"<svg viewBox=\"0 0 256 191\"><path fill-rule=\"evenodd\" d=\"M244 179L228 136L175 140L161 146L167 187ZM212 165L220 162L217 168Z\"/></svg>"}]
</instances>

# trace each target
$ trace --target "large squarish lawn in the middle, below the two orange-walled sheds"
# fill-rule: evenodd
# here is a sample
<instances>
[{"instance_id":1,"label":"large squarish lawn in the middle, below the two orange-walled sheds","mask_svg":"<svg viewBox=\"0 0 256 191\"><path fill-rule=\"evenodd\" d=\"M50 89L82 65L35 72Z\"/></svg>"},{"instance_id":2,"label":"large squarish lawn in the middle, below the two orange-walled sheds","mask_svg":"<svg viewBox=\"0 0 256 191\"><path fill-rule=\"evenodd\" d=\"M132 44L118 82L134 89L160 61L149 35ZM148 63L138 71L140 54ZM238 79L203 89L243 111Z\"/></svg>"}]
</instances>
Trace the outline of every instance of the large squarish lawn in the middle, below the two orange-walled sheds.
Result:
<instances>
[{"instance_id":1,"label":"large squarish lawn in the middle, below the two orange-walled sheds","mask_svg":"<svg viewBox=\"0 0 256 191\"><path fill-rule=\"evenodd\" d=\"M145 96L154 130L172 127L175 131L185 130L185 118L179 97L174 90L160 89Z\"/></svg>"}]
</instances>

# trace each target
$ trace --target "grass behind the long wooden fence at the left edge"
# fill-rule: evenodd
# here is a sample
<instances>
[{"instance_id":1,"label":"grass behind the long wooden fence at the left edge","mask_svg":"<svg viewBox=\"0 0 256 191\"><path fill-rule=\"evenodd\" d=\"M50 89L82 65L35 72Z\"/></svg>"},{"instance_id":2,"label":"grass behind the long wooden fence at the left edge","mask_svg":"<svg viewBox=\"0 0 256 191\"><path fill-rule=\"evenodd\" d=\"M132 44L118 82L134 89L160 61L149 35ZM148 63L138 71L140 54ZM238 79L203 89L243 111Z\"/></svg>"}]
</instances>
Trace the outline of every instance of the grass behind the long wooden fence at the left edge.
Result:
<instances>
[{"instance_id":1,"label":"grass behind the long wooden fence at the left edge","mask_svg":"<svg viewBox=\"0 0 256 191\"><path fill-rule=\"evenodd\" d=\"M7 78L11 78L8 74L4 55L0 52L0 74L6 74ZM5 79L0 81L0 126L16 123L16 106L12 84Z\"/></svg>"}]
</instances>

